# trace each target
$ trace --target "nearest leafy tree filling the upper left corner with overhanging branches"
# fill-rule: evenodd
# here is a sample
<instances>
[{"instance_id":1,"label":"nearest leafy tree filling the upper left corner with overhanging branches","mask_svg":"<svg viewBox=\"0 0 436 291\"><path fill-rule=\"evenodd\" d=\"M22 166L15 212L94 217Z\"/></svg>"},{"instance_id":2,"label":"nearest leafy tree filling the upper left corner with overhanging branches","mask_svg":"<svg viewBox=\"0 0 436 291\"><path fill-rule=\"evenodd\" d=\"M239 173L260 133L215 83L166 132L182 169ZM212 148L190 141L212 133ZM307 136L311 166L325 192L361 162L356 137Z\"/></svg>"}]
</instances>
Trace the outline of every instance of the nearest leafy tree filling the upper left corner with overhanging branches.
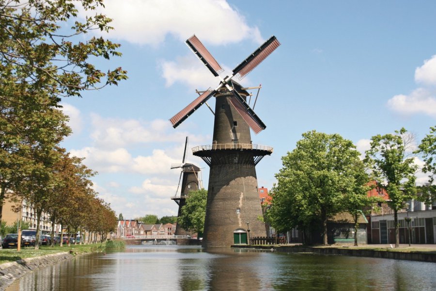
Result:
<instances>
[{"instance_id":1,"label":"nearest leafy tree filling the upper left corner with overhanging branches","mask_svg":"<svg viewBox=\"0 0 436 291\"><path fill-rule=\"evenodd\" d=\"M0 220L7 195L37 172L32 166L40 162L32 160L30 147L52 144L42 125L59 116L54 110L61 97L126 79L121 67L103 72L93 65L121 55L118 44L86 37L93 30L109 31L108 17L78 17L78 7L90 13L102 5L103 0L0 0Z\"/></svg>"}]
</instances>

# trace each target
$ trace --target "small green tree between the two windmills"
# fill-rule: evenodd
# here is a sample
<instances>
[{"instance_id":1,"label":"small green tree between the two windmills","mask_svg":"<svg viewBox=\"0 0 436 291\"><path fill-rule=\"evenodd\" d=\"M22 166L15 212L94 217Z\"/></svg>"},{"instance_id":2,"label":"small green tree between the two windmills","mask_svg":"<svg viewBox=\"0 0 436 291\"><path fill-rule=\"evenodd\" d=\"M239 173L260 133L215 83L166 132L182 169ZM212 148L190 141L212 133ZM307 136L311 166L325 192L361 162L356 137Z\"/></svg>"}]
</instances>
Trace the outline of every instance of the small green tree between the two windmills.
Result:
<instances>
[{"instance_id":1,"label":"small green tree between the two windmills","mask_svg":"<svg viewBox=\"0 0 436 291\"><path fill-rule=\"evenodd\" d=\"M197 232L197 238L204 230L204 218L206 216L207 190L199 189L189 192L186 198L186 204L182 207L181 215L177 223L183 229Z\"/></svg>"}]
</instances>

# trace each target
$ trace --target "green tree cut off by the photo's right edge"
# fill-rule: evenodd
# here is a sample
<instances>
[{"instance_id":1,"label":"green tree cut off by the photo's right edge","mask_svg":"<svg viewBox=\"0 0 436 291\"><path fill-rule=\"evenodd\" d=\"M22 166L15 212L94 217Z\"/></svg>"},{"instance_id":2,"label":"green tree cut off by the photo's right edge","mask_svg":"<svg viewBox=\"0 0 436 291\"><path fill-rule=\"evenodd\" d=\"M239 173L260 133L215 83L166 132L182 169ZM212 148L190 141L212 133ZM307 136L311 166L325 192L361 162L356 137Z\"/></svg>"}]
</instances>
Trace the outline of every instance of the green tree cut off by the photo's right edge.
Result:
<instances>
[{"instance_id":1,"label":"green tree cut off by the photo's right edge","mask_svg":"<svg viewBox=\"0 0 436 291\"><path fill-rule=\"evenodd\" d=\"M429 174L429 185L420 187L420 200L431 205L436 200L436 185L433 184L436 178L436 126L430 127L430 133L422 139L417 153L420 153L424 160L422 171Z\"/></svg>"}]
</instances>

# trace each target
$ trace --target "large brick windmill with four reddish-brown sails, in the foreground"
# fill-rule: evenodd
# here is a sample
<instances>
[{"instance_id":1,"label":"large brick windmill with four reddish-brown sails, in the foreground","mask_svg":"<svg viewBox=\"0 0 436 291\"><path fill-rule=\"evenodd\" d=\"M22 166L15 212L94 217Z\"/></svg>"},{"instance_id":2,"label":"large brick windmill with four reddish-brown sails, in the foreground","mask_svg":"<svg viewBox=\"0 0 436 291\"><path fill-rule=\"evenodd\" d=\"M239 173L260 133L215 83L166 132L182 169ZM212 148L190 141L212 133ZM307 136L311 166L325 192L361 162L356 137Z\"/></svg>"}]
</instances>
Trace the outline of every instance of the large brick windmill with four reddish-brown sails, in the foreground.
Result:
<instances>
[{"instance_id":1,"label":"large brick windmill with four reddish-brown sails, in the foreground","mask_svg":"<svg viewBox=\"0 0 436 291\"><path fill-rule=\"evenodd\" d=\"M242 79L280 43L272 36L237 65L232 76L224 79L218 74L222 71L221 66L195 35L186 43L220 79L216 89L209 88L170 119L176 128L209 98L216 98L212 145L192 149L193 154L201 157L210 167L202 245L229 247L249 243L250 237L266 236L264 223L257 219L262 215L262 207L255 166L273 149L252 144L250 128L257 134L266 126L247 103L248 88L241 87L232 79L234 76Z\"/></svg>"}]
</instances>

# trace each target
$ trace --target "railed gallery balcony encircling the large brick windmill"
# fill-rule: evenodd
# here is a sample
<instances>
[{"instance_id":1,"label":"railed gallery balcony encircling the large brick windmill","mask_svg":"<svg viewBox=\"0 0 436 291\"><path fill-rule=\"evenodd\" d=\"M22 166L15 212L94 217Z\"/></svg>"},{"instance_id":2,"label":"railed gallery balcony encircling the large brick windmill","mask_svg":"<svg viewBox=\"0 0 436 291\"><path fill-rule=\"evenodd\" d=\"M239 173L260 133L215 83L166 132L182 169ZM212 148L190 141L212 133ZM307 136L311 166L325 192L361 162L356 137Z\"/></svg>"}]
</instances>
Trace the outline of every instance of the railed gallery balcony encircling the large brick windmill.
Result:
<instances>
[{"instance_id":1,"label":"railed gallery balcony encircling the large brick windmill","mask_svg":"<svg viewBox=\"0 0 436 291\"><path fill-rule=\"evenodd\" d=\"M223 156L226 151L229 155ZM213 144L207 146L196 146L192 148L194 156L202 158L209 166L212 162L219 163L240 163L256 165L266 155L271 155L271 146L253 144Z\"/></svg>"}]
</instances>

